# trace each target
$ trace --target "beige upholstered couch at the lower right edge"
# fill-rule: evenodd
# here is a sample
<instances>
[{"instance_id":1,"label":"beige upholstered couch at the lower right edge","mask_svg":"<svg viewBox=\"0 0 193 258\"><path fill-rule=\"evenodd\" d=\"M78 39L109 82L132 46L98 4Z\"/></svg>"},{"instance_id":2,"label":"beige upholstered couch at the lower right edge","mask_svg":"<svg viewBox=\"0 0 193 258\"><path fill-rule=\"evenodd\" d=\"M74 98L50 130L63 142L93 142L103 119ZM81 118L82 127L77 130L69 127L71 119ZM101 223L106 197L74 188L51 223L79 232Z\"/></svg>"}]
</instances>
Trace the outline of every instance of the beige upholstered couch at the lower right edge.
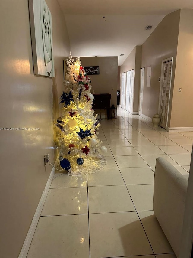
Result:
<instances>
[{"instance_id":1,"label":"beige upholstered couch at the lower right edge","mask_svg":"<svg viewBox=\"0 0 193 258\"><path fill-rule=\"evenodd\" d=\"M164 158L156 159L153 211L174 253L179 257L188 175Z\"/></svg>"}]
</instances>

